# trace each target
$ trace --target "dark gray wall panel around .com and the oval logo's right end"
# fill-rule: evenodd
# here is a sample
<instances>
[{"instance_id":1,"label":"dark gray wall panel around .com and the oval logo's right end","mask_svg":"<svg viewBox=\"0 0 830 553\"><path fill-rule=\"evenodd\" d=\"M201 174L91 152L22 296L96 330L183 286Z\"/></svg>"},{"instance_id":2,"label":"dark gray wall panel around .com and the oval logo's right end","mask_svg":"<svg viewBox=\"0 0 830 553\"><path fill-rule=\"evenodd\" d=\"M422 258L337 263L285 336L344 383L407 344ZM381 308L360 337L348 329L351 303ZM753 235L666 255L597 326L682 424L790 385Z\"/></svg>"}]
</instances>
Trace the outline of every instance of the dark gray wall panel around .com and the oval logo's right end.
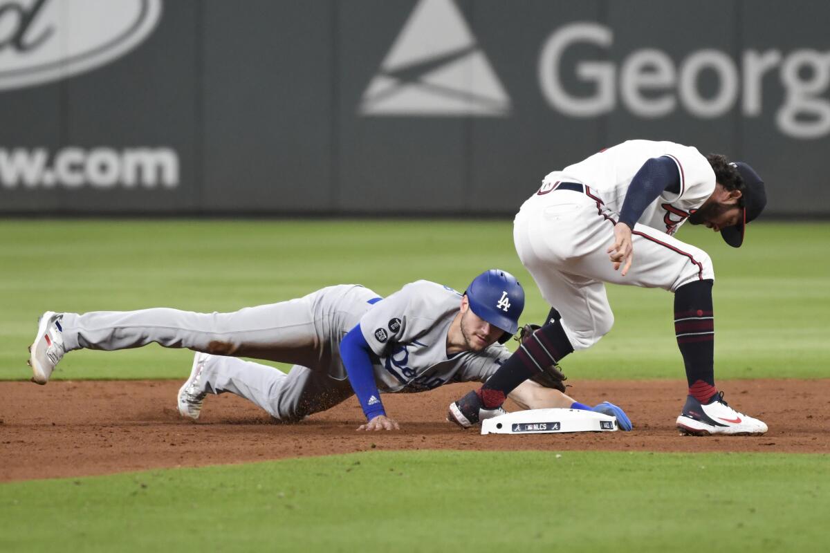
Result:
<instances>
[{"instance_id":1,"label":"dark gray wall panel around .com and the oval logo's right end","mask_svg":"<svg viewBox=\"0 0 830 553\"><path fill-rule=\"evenodd\" d=\"M114 63L66 81L66 146L169 148L178 186L60 188L76 211L189 211L196 206L198 2L166 2L144 44Z\"/></svg>"}]
</instances>

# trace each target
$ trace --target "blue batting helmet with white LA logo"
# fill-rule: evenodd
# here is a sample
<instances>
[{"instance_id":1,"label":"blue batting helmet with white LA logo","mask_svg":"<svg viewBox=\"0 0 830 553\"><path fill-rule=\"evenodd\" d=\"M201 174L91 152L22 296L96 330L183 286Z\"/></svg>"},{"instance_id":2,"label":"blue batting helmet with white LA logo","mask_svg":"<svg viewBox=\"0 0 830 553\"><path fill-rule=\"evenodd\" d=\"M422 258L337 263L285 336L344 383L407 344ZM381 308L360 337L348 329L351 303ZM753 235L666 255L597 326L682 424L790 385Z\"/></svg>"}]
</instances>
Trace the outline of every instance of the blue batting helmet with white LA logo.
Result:
<instances>
[{"instance_id":1,"label":"blue batting helmet with white LA logo","mask_svg":"<svg viewBox=\"0 0 830 553\"><path fill-rule=\"evenodd\" d=\"M515 276L500 269L490 269L473 279L465 293L476 316L505 331L499 342L506 342L519 330L519 318L525 308L525 290Z\"/></svg>"}]
</instances>

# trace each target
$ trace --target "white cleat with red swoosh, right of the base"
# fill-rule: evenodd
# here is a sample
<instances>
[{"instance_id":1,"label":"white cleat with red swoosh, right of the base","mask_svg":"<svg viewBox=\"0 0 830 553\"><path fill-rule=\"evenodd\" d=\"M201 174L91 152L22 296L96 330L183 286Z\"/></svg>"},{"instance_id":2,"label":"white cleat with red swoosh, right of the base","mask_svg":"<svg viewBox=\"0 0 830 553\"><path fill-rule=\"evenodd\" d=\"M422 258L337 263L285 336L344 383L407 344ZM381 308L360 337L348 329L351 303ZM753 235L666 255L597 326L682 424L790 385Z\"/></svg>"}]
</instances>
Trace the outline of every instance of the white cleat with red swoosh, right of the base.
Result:
<instances>
[{"instance_id":1,"label":"white cleat with red swoosh, right of the base","mask_svg":"<svg viewBox=\"0 0 830 553\"><path fill-rule=\"evenodd\" d=\"M677 429L681 434L709 436L711 434L760 435L767 431L762 420L732 409L724 401L724 393L712 397L702 404L691 395L686 397L681 415L677 417Z\"/></svg>"}]
</instances>

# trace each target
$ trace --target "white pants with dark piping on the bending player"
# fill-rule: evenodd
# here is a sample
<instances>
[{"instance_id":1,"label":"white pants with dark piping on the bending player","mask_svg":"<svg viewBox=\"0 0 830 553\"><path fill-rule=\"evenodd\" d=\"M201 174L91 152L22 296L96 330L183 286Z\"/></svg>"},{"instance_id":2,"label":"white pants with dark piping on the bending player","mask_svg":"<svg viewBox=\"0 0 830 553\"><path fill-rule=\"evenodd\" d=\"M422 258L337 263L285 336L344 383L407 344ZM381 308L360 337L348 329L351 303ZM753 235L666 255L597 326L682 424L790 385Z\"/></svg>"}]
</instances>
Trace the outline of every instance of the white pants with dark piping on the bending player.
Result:
<instances>
[{"instance_id":1,"label":"white pants with dark piping on the bending player","mask_svg":"<svg viewBox=\"0 0 830 553\"><path fill-rule=\"evenodd\" d=\"M554 179L550 179L554 180ZM585 192L554 190L531 196L515 217L516 252L542 297L562 315L574 350L603 337L614 318L604 283L671 292L696 280L714 279L708 254L649 226L635 225L633 260L626 276L608 259L618 213Z\"/></svg>"}]
</instances>

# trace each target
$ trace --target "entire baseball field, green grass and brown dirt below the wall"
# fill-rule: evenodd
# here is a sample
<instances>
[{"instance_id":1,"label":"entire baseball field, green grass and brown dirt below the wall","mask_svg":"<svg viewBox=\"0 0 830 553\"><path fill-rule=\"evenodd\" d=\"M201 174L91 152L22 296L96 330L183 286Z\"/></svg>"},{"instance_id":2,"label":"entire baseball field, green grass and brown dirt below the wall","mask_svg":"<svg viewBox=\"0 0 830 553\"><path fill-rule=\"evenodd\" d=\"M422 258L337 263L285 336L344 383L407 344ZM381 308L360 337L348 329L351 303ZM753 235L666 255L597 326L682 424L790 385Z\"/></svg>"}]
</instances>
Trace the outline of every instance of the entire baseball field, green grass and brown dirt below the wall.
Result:
<instances>
[{"instance_id":1,"label":"entire baseball field, green grass and brown dirt below the wall","mask_svg":"<svg viewBox=\"0 0 830 553\"><path fill-rule=\"evenodd\" d=\"M525 284L523 321L547 306L509 221L0 221L0 551L827 551L830 225L678 237L714 260L715 374L764 436L677 435L671 296L614 286L616 326L564 371L630 433L465 432L443 415L472 385L385 396L399 432L355 432L354 398L285 425L211 395L193 424L193 352L156 346L73 352L35 386L47 309L232 311L492 267Z\"/></svg>"}]
</instances>

